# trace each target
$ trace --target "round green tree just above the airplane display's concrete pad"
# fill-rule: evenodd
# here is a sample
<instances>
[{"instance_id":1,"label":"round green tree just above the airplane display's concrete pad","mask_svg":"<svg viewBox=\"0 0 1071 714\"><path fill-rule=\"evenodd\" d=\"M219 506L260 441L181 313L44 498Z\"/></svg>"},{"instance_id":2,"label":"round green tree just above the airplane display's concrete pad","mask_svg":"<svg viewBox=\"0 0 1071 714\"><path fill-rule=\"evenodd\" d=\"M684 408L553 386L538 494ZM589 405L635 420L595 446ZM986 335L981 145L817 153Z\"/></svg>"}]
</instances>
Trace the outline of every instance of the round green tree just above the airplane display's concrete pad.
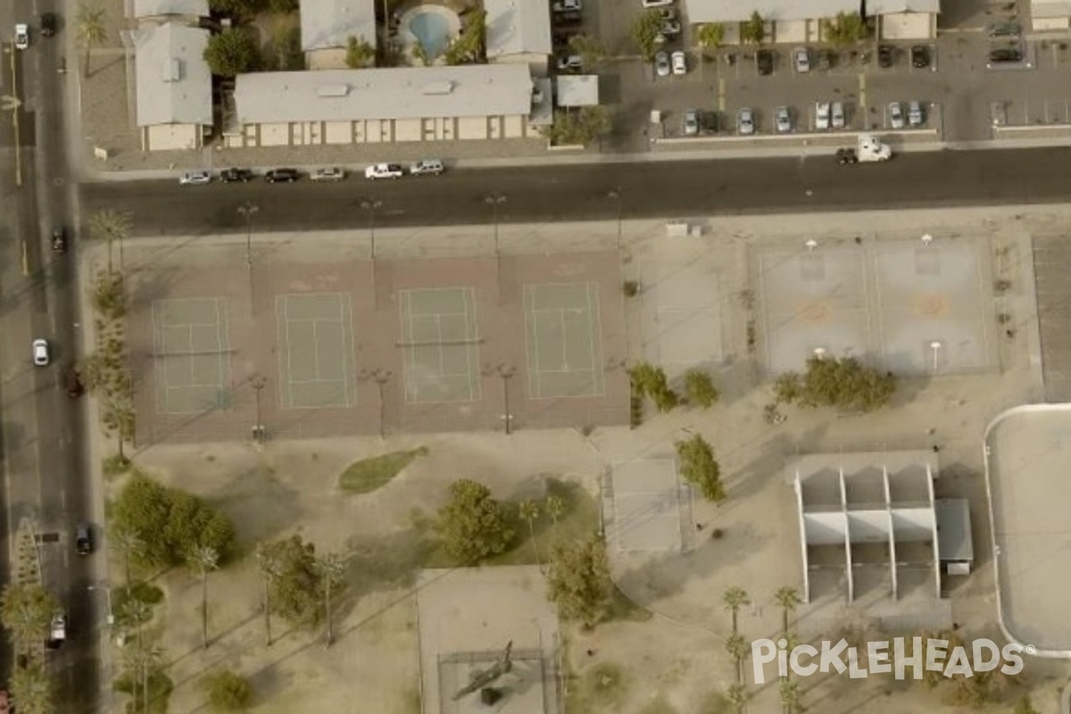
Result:
<instances>
[{"instance_id":1,"label":"round green tree just above the airplane display's concrete pad","mask_svg":"<svg viewBox=\"0 0 1071 714\"><path fill-rule=\"evenodd\" d=\"M467 565L504 552L514 535L491 490L469 478L450 484L450 500L439 508L436 530L447 551Z\"/></svg>"}]
</instances>

